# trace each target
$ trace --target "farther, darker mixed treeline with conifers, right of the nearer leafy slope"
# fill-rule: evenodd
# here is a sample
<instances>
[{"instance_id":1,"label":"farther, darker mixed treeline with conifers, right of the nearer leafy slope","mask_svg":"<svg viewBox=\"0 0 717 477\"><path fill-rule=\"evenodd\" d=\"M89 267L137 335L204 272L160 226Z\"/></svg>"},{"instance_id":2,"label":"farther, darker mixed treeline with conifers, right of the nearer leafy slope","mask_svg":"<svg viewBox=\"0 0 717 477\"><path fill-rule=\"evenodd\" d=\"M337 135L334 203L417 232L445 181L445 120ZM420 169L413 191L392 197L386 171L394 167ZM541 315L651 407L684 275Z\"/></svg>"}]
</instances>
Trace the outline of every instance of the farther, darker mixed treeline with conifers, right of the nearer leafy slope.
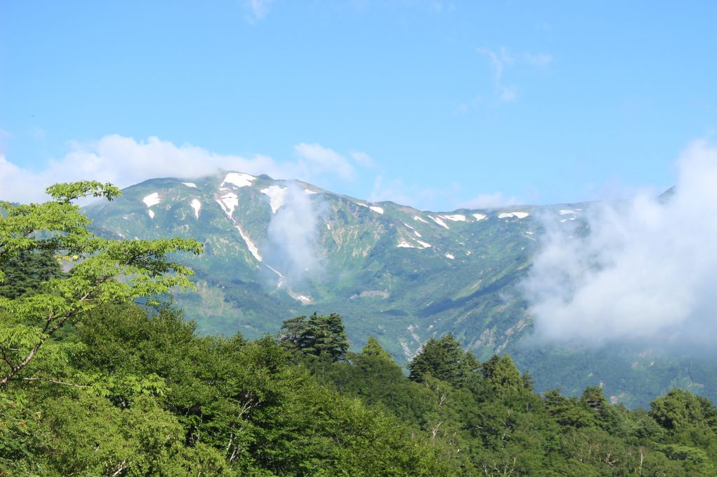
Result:
<instances>
[{"instance_id":1,"label":"farther, darker mixed treeline with conifers, right of the nearer leafy slope","mask_svg":"<svg viewBox=\"0 0 717 477\"><path fill-rule=\"evenodd\" d=\"M406 377L373 337L361 353L346 352L337 322L288 320L280 342L323 385L408 425L450 475L717 475L717 409L687 390L649 411L611 405L600 387L538 395L511 357L479 362L450 334L429 339Z\"/></svg>"}]
</instances>

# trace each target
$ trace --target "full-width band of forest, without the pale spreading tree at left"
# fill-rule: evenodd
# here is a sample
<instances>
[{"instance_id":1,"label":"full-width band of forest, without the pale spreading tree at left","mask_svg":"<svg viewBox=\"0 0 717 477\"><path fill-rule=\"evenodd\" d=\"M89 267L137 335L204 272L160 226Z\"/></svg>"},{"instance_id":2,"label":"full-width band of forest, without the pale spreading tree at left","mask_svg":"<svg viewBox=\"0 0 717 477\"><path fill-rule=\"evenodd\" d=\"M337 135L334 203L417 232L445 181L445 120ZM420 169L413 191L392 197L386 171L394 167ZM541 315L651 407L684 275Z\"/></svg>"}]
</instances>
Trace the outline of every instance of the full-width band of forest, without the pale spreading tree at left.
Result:
<instances>
[{"instance_id":1,"label":"full-width band of forest, without the pale spreading tree at left","mask_svg":"<svg viewBox=\"0 0 717 477\"><path fill-rule=\"evenodd\" d=\"M0 475L713 476L717 411L542 396L508 355L430 339L407 377L341 317L199 337L181 310L106 304L67 329L54 382L0 392Z\"/></svg>"}]
</instances>

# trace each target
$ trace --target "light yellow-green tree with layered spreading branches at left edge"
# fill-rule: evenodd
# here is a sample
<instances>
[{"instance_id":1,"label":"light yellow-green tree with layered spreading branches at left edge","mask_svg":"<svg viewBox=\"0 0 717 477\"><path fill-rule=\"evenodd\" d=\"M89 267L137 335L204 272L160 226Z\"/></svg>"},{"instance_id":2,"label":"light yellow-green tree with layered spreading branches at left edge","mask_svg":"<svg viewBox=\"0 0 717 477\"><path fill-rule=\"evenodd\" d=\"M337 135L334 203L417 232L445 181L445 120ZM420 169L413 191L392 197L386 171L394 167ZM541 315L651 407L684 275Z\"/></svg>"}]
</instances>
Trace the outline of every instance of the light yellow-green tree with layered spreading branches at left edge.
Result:
<instances>
[{"instance_id":1,"label":"light yellow-green tree with layered spreading branches at left edge","mask_svg":"<svg viewBox=\"0 0 717 477\"><path fill-rule=\"evenodd\" d=\"M176 251L199 254L202 249L186 238L116 241L96 236L75 201L119 197L120 190L109 183L55 184L46 192L51 201L0 203L0 282L6 280L6 264L23 254L51 254L70 266L67 275L42 276L37 293L0 297L0 389L11 381L62 383L52 369L34 362L42 356L41 362L52 363L53 355L62 355L62 344L52 340L57 330L103 303L191 286L191 270L167 256Z\"/></svg>"}]
</instances>

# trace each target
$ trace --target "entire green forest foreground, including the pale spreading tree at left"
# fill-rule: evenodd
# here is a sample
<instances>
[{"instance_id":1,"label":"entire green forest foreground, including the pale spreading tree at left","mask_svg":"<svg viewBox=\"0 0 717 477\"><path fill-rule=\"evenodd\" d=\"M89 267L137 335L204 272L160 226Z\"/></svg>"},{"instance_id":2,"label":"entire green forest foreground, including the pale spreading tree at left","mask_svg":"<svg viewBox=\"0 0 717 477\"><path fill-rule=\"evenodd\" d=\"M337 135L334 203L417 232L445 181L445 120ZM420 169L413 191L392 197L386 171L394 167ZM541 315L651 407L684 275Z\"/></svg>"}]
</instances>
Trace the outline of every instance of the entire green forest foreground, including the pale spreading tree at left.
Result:
<instances>
[{"instance_id":1,"label":"entire green forest foreground, including the pale spreading tree at left","mask_svg":"<svg viewBox=\"0 0 717 477\"><path fill-rule=\"evenodd\" d=\"M0 204L0 476L713 476L717 409L600 387L536 392L508 355L450 334L404 371L338 314L248 341L200 336L171 301L190 239L95 236L80 182Z\"/></svg>"}]
</instances>

